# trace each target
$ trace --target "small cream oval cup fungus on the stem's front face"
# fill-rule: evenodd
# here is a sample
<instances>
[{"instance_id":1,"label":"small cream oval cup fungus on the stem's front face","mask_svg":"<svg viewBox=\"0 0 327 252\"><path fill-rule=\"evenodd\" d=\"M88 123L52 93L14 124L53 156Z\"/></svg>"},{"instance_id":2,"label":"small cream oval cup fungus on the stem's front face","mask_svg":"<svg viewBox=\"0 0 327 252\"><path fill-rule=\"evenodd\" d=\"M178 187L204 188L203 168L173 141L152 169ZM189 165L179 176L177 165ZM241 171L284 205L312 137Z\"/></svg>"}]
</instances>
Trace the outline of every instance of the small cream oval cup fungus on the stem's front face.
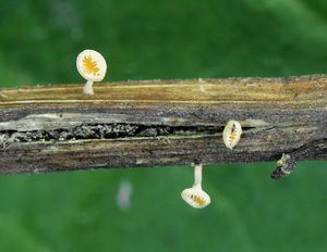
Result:
<instances>
[{"instance_id":1,"label":"small cream oval cup fungus on the stem's front face","mask_svg":"<svg viewBox=\"0 0 327 252\"><path fill-rule=\"evenodd\" d=\"M233 149L240 141L242 126L238 121L229 121L222 131L222 140L227 148Z\"/></svg>"}]
</instances>

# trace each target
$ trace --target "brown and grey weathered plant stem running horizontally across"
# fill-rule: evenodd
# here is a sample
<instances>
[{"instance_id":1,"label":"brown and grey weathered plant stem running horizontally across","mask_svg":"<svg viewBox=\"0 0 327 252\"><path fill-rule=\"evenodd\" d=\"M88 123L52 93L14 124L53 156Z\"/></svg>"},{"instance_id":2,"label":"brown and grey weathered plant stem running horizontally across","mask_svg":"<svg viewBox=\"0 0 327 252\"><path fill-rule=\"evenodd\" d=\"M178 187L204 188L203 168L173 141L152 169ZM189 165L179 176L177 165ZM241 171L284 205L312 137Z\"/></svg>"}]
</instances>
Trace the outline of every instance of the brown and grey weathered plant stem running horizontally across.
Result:
<instances>
[{"instance_id":1,"label":"brown and grey weathered plant stem running horizontally across","mask_svg":"<svg viewBox=\"0 0 327 252\"><path fill-rule=\"evenodd\" d=\"M147 80L0 90L0 173L327 158L327 77ZM243 135L229 150L229 119Z\"/></svg>"}]
</instances>

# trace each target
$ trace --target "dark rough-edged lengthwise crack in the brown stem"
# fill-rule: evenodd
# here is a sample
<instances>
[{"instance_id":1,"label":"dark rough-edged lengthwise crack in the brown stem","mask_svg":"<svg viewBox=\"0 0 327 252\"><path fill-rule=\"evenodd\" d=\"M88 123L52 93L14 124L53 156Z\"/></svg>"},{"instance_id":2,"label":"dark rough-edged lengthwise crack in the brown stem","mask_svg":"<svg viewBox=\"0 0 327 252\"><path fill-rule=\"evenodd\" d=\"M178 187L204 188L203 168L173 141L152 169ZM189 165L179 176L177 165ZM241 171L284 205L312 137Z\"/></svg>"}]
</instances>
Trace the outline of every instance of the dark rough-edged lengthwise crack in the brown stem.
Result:
<instances>
[{"instance_id":1,"label":"dark rough-edged lengthwise crack in the brown stem","mask_svg":"<svg viewBox=\"0 0 327 252\"><path fill-rule=\"evenodd\" d=\"M81 125L69 129L0 131L0 139L7 146L10 142L32 141L69 141L93 139L122 139L122 138L156 138L172 136L215 135L221 133L221 127L215 126L162 126L137 124L95 124ZM7 141L7 142L5 142ZM1 143L1 140L0 140Z\"/></svg>"}]
</instances>

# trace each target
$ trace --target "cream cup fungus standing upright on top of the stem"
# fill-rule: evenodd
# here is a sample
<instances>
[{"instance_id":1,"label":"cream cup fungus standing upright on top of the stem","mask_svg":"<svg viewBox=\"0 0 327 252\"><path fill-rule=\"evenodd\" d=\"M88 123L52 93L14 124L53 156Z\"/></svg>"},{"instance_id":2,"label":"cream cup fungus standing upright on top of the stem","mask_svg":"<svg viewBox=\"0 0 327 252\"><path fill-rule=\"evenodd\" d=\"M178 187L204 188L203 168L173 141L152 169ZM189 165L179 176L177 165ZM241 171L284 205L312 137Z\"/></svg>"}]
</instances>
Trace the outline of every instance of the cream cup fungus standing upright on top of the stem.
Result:
<instances>
[{"instance_id":1,"label":"cream cup fungus standing upright on top of the stem","mask_svg":"<svg viewBox=\"0 0 327 252\"><path fill-rule=\"evenodd\" d=\"M107 72L107 63L104 56L94 50L84 50L77 55L76 66L78 73L87 80L83 93L93 96L93 83L101 81Z\"/></svg>"}]
</instances>

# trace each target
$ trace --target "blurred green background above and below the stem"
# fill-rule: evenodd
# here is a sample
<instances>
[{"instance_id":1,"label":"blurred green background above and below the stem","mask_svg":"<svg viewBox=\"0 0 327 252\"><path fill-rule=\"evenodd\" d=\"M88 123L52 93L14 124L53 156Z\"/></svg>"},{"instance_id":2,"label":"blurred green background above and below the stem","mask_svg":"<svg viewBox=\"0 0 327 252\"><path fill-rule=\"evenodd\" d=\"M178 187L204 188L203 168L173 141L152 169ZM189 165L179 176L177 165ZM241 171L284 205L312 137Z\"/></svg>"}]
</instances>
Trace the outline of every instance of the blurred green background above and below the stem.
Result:
<instances>
[{"instance_id":1,"label":"blurred green background above and below the stem","mask_svg":"<svg viewBox=\"0 0 327 252\"><path fill-rule=\"evenodd\" d=\"M110 81L326 73L325 0L0 3L1 87L81 83L86 48ZM326 251L326 165L205 167L204 210L180 198L190 167L2 176L0 251Z\"/></svg>"}]
</instances>

